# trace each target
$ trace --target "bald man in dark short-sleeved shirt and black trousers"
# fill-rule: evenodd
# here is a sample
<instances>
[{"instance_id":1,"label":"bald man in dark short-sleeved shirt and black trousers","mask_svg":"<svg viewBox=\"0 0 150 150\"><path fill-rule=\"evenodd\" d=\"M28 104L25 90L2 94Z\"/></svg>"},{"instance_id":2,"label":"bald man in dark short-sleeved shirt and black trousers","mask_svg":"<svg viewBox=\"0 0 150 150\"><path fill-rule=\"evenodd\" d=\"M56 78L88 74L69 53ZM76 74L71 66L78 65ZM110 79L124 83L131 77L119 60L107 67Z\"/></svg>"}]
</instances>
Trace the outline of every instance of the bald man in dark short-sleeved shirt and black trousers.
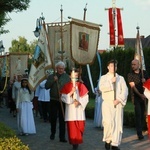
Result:
<instances>
[{"instance_id":1,"label":"bald man in dark short-sleeved shirt and black trousers","mask_svg":"<svg viewBox=\"0 0 150 150\"><path fill-rule=\"evenodd\" d=\"M128 82L131 87L134 111L135 111L135 126L139 140L144 138L142 134L145 113L145 100L143 92L143 83L148 79L145 70L140 69L139 60L134 59L131 62L132 72L128 74Z\"/></svg>"}]
</instances>

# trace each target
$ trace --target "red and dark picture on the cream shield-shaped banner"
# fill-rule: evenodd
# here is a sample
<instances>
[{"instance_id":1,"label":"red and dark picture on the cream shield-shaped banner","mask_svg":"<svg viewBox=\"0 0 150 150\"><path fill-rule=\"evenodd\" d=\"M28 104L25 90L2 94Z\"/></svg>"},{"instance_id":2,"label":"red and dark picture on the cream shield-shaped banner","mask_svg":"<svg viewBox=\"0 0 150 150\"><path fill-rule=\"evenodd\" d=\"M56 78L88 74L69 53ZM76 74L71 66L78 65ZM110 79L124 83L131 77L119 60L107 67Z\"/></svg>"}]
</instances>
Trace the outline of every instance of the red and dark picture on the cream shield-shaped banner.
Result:
<instances>
[{"instance_id":1,"label":"red and dark picture on the cream shield-shaped banner","mask_svg":"<svg viewBox=\"0 0 150 150\"><path fill-rule=\"evenodd\" d=\"M79 32L79 49L88 51L89 34Z\"/></svg>"}]
</instances>

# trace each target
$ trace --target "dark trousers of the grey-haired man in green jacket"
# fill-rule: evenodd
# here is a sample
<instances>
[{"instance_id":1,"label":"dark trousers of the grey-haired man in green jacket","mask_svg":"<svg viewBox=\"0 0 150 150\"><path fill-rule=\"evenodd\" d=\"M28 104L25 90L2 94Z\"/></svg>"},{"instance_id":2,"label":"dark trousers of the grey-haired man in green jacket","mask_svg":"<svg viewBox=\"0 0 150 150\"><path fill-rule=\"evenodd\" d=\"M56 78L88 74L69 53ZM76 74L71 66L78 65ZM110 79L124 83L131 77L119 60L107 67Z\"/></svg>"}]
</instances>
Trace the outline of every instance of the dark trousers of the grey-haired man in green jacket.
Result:
<instances>
[{"instance_id":1,"label":"dark trousers of the grey-haired man in green jacket","mask_svg":"<svg viewBox=\"0 0 150 150\"><path fill-rule=\"evenodd\" d=\"M63 110L65 104L63 104ZM62 113L62 107L59 101L50 100L50 124L51 124L51 134L55 135L56 133L56 122L57 118L59 119L59 138L65 139L65 121Z\"/></svg>"}]
</instances>

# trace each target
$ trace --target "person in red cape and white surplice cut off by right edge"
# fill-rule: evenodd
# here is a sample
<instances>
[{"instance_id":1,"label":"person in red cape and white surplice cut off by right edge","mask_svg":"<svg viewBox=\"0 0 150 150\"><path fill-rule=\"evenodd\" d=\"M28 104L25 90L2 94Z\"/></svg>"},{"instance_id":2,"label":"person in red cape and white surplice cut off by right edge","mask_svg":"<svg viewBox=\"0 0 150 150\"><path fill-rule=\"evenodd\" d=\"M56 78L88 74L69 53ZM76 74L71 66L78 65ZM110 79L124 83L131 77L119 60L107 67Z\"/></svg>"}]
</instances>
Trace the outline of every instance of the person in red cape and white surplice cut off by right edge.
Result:
<instances>
[{"instance_id":1,"label":"person in red cape and white surplice cut off by right edge","mask_svg":"<svg viewBox=\"0 0 150 150\"><path fill-rule=\"evenodd\" d=\"M150 79L146 80L143 84L144 95L148 99L147 104L147 127L148 127L148 139L150 140Z\"/></svg>"}]
</instances>

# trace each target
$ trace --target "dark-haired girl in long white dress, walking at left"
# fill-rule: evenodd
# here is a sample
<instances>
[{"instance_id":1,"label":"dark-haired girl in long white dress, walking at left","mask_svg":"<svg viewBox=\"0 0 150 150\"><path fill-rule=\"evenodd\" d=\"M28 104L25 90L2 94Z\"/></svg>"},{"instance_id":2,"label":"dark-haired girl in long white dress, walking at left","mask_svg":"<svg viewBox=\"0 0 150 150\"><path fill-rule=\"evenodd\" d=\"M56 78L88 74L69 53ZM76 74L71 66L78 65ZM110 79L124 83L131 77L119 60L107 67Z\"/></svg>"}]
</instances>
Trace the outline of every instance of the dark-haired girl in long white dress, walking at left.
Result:
<instances>
[{"instance_id":1,"label":"dark-haired girl in long white dress, walking at left","mask_svg":"<svg viewBox=\"0 0 150 150\"><path fill-rule=\"evenodd\" d=\"M20 135L35 134L35 123L33 118L33 104L31 100L34 97L34 93L30 91L28 87L28 80L21 80L21 88L17 96L17 120L18 120L18 129Z\"/></svg>"}]
</instances>

